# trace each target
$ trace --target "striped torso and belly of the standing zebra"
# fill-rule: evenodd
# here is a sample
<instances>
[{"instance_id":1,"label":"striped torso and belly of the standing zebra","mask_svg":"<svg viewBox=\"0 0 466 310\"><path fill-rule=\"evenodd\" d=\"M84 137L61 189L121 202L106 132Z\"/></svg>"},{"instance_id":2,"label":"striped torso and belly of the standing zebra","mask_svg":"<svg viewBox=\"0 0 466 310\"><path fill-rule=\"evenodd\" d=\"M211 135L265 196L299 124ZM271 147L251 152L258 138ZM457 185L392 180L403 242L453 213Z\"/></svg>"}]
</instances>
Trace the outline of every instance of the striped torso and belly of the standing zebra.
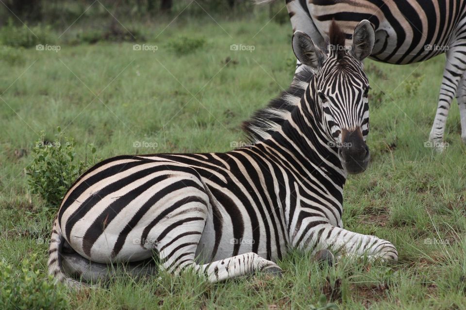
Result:
<instances>
[{"instance_id":1,"label":"striped torso and belly of the standing zebra","mask_svg":"<svg viewBox=\"0 0 466 310\"><path fill-rule=\"evenodd\" d=\"M346 45L351 44L350 38L357 23L368 19L376 27L376 44L371 58L381 62L407 64L425 61L446 51L445 46L448 46L455 31L455 27L447 27L449 21L457 21L463 14L459 8L464 5L464 1L458 0L454 5L453 2L309 1L308 10L323 37L328 35L334 19L347 34ZM448 18L447 21L441 22L441 16ZM442 32L443 35L440 35Z\"/></svg>"}]
</instances>

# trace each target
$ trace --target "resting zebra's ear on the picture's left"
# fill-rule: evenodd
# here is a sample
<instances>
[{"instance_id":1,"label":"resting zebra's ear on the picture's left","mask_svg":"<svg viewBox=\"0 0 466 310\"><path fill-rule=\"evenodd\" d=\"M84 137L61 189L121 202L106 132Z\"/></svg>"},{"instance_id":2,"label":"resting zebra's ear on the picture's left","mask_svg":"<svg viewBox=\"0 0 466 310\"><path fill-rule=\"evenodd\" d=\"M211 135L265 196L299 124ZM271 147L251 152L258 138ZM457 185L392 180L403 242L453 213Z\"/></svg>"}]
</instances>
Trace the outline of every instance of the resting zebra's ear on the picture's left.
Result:
<instances>
[{"instance_id":1,"label":"resting zebra's ear on the picture's left","mask_svg":"<svg viewBox=\"0 0 466 310\"><path fill-rule=\"evenodd\" d=\"M320 67L325 60L325 54L318 48L312 39L302 31L293 33L293 52L298 60L314 69Z\"/></svg>"}]
</instances>

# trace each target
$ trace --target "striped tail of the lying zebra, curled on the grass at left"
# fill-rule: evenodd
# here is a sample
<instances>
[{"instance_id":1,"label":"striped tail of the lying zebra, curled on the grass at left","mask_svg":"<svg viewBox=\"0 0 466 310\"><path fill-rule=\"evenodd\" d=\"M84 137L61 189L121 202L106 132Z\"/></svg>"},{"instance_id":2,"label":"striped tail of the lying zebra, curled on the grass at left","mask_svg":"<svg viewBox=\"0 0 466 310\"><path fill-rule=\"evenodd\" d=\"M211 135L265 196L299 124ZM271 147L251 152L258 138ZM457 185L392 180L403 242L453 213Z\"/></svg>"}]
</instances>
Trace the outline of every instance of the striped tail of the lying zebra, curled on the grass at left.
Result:
<instances>
[{"instance_id":1,"label":"striped tail of the lying zebra, curled on the grass at left","mask_svg":"<svg viewBox=\"0 0 466 310\"><path fill-rule=\"evenodd\" d=\"M68 277L62 268L62 248L65 238L58 225L58 218L53 222L52 235L50 237L49 248L49 275L53 276L55 283L62 282L67 287L78 288L81 282Z\"/></svg>"}]
</instances>

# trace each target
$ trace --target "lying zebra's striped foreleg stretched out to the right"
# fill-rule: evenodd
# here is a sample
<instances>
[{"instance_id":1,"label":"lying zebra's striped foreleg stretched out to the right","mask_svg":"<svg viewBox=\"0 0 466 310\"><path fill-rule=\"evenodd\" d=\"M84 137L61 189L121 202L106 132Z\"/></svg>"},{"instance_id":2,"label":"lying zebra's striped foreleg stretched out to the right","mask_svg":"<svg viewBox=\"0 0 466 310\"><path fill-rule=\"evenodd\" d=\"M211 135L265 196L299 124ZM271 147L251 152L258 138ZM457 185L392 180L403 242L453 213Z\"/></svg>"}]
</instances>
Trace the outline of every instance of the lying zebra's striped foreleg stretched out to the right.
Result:
<instances>
[{"instance_id":1,"label":"lying zebra's striped foreleg stretched out to the right","mask_svg":"<svg viewBox=\"0 0 466 310\"><path fill-rule=\"evenodd\" d=\"M376 236L353 233L346 229L320 224L309 230L301 238L301 247L318 250L328 248L338 255L350 254L361 257L367 255L371 259L383 261L398 261L397 249L388 241Z\"/></svg>"}]
</instances>

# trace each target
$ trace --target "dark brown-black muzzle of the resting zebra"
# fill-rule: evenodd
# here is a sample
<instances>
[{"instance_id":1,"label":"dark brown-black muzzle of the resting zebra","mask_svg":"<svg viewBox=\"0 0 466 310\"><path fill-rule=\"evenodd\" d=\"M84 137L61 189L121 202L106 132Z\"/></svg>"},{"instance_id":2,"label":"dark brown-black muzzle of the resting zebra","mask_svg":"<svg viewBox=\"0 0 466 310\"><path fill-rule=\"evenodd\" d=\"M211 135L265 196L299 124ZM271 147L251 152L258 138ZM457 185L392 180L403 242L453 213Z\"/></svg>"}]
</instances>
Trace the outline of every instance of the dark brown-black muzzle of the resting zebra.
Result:
<instances>
[{"instance_id":1,"label":"dark brown-black muzzle of the resting zebra","mask_svg":"<svg viewBox=\"0 0 466 310\"><path fill-rule=\"evenodd\" d=\"M359 127L353 131L343 129L341 141L338 156L343 168L350 174L365 171L369 163L370 153L361 129Z\"/></svg>"}]
</instances>

